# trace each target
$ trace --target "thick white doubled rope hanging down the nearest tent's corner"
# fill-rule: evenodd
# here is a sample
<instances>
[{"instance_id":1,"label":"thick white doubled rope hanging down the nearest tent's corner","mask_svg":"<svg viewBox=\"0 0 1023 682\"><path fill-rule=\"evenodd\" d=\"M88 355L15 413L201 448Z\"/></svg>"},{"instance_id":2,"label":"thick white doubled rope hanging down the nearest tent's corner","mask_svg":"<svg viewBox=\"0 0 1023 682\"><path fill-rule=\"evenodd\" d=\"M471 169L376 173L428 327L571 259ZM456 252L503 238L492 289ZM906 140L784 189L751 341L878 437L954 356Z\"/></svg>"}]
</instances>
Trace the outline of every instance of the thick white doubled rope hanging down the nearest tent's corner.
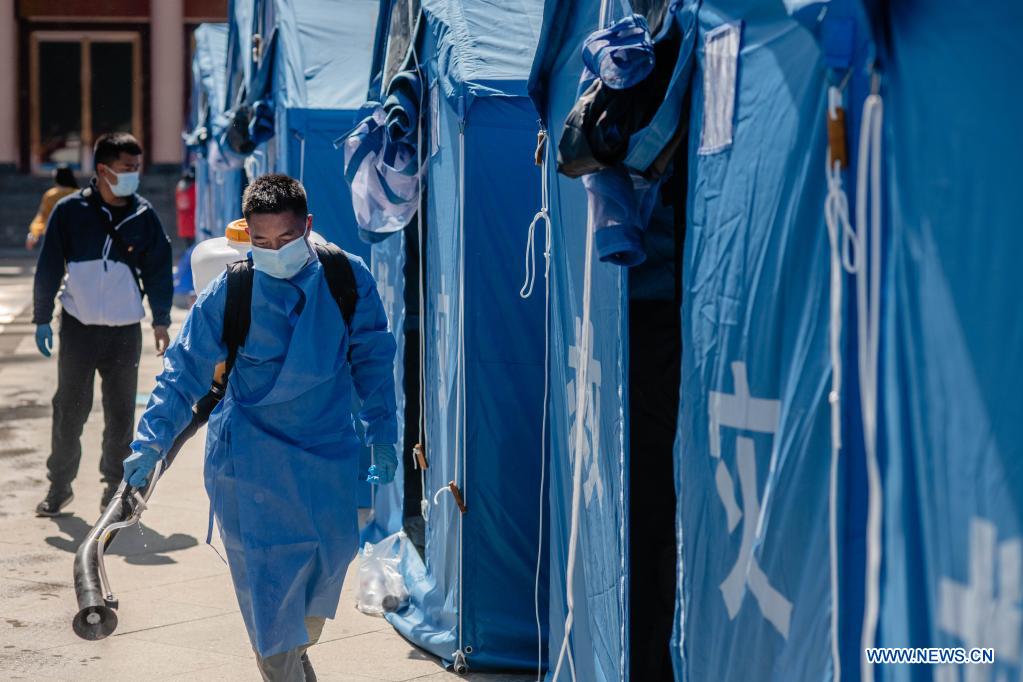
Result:
<instances>
[{"instance_id":1,"label":"thick white doubled rope hanging down the nearest tent's corner","mask_svg":"<svg viewBox=\"0 0 1023 682\"><path fill-rule=\"evenodd\" d=\"M874 646L880 612L881 578L881 468L878 463L878 356L881 319L881 135L884 102L878 74L872 93L863 102L856 169L856 231L859 245L870 248L869 267L856 270L857 358L863 446L866 451L866 576L860 648ZM870 201L868 201L868 198ZM868 209L870 203L870 209ZM868 217L868 210L870 214ZM863 682L873 682L874 669L861 668Z\"/></svg>"}]
</instances>

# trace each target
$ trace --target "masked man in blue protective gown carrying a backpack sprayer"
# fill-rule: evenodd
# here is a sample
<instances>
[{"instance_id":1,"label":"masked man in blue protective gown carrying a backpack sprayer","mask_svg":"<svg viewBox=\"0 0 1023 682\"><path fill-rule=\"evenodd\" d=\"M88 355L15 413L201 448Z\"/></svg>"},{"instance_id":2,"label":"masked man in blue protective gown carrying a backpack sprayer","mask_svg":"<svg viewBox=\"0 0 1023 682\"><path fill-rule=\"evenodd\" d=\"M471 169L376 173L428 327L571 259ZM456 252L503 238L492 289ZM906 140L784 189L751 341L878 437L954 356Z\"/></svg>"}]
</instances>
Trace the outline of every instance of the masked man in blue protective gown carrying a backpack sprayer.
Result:
<instances>
[{"instance_id":1,"label":"masked man in blue protective gown carrying a backpack sprayer","mask_svg":"<svg viewBox=\"0 0 1023 682\"><path fill-rule=\"evenodd\" d=\"M309 243L312 216L298 181L258 178L242 213L255 268L252 320L210 417L206 488L263 679L310 680L305 651L333 618L359 543L353 387L375 462L363 475L394 479L395 340L372 275L354 257L358 298L346 326ZM167 351L125 461L132 486L146 484L228 355L226 289L221 275L203 291Z\"/></svg>"}]
</instances>

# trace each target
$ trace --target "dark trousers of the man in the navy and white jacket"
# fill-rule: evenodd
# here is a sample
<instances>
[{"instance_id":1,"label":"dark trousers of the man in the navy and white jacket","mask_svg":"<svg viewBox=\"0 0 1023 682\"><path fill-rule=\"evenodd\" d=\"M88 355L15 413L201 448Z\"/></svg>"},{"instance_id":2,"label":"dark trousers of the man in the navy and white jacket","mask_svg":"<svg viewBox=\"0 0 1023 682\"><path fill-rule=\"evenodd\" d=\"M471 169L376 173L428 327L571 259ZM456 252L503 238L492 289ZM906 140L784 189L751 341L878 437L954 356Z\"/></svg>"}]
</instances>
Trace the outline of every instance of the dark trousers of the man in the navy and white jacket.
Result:
<instances>
[{"instance_id":1,"label":"dark trousers of the man in the navy and white jacket","mask_svg":"<svg viewBox=\"0 0 1023 682\"><path fill-rule=\"evenodd\" d=\"M99 472L104 483L121 481L135 430L135 394L141 356L140 324L107 327L82 324L68 313L61 315L53 431L50 457L46 460L52 486L71 486L78 475L82 429L92 410L97 371L103 396Z\"/></svg>"}]
</instances>

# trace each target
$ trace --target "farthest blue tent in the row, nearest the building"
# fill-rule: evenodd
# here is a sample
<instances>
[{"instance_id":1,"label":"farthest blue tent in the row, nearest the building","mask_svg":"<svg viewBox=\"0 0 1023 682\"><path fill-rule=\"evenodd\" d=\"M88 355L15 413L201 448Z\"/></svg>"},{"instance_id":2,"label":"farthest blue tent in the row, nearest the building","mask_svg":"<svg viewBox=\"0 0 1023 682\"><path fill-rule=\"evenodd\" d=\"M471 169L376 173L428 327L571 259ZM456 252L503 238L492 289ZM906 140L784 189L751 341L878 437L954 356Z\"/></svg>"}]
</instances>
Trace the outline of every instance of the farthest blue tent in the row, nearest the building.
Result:
<instances>
[{"instance_id":1,"label":"farthest blue tent in the row, nearest the building","mask_svg":"<svg viewBox=\"0 0 1023 682\"><path fill-rule=\"evenodd\" d=\"M228 30L226 24L203 24L195 29L192 56L191 135L213 127L224 112ZM207 136L209 132L207 132ZM241 171L211 166L212 139L199 141L195 154L195 238L224 234L224 227L241 217Z\"/></svg>"}]
</instances>

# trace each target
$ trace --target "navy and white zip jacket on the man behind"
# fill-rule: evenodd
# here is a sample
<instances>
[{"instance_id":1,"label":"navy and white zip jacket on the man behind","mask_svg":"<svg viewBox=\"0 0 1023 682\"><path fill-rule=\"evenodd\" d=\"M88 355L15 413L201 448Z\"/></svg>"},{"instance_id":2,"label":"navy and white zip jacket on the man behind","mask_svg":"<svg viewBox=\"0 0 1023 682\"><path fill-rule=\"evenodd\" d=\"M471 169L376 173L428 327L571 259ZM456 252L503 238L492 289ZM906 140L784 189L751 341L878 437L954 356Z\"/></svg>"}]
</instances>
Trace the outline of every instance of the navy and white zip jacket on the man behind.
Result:
<instances>
[{"instance_id":1,"label":"navy and white zip jacket on the man behind","mask_svg":"<svg viewBox=\"0 0 1023 682\"><path fill-rule=\"evenodd\" d=\"M173 257L157 212L135 194L129 199L127 217L114 223L114 213L100 198L95 180L62 198L50 214L36 267L33 323L50 322L61 283L60 305L83 324L123 326L145 317L131 266L107 235L104 222L131 249L153 325L171 323Z\"/></svg>"}]
</instances>

